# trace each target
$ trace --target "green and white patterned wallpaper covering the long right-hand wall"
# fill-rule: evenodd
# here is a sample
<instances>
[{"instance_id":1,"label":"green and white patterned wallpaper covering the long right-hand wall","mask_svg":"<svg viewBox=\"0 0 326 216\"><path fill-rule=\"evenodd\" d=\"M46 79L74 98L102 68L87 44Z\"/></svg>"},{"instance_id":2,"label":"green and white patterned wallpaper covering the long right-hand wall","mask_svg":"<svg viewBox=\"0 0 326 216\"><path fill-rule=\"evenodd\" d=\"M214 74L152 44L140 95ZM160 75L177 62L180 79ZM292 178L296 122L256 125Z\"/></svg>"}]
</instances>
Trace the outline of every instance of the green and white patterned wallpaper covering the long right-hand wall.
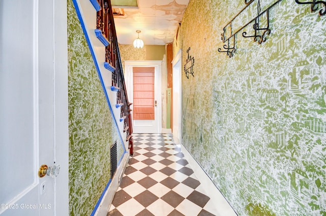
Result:
<instances>
[{"instance_id":1,"label":"green and white patterned wallpaper covering the long right-hand wall","mask_svg":"<svg viewBox=\"0 0 326 216\"><path fill-rule=\"evenodd\" d=\"M258 2L277 1L254 1L234 26ZM266 42L240 32L229 58L223 27L244 6L189 2L174 42L183 65L189 47L195 58L195 77L182 77L183 145L240 216L326 215L326 16L280 1Z\"/></svg>"}]
</instances>

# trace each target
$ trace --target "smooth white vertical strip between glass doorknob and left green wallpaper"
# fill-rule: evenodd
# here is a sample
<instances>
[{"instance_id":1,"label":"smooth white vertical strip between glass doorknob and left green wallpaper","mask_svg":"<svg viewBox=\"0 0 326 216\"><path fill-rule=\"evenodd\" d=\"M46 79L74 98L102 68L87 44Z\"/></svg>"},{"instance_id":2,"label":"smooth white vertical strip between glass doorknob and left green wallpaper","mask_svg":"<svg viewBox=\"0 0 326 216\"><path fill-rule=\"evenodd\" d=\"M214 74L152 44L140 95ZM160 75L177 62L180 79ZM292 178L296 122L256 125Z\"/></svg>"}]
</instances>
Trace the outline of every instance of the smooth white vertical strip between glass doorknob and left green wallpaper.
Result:
<instances>
[{"instance_id":1,"label":"smooth white vertical strip between glass doorknob and left green wallpaper","mask_svg":"<svg viewBox=\"0 0 326 216\"><path fill-rule=\"evenodd\" d=\"M56 177L56 215L69 214L69 114L68 114L68 24L67 0L55 0L55 148L56 163L61 166Z\"/></svg>"}]
</instances>

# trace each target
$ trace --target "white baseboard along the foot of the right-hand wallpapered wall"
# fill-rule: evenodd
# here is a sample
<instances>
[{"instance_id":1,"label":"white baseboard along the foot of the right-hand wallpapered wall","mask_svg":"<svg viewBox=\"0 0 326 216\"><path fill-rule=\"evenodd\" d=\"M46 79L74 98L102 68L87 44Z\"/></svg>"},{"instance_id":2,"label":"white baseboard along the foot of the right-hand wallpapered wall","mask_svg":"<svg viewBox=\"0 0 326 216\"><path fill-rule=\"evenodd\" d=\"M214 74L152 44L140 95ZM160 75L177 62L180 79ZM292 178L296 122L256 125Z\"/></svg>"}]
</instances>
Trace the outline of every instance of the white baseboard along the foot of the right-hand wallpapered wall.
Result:
<instances>
[{"instance_id":1,"label":"white baseboard along the foot of the right-hand wallpapered wall","mask_svg":"<svg viewBox=\"0 0 326 216\"><path fill-rule=\"evenodd\" d=\"M216 211L219 213L219 216L237 216L236 212L230 206L225 197L221 194L215 184L198 164L198 162L193 158L189 151L181 145L181 152L184 155L184 158L188 161L189 165L194 170L194 174L197 179L200 181L200 184L203 186L204 191L209 195L210 199L214 202L216 206Z\"/></svg>"}]
</instances>

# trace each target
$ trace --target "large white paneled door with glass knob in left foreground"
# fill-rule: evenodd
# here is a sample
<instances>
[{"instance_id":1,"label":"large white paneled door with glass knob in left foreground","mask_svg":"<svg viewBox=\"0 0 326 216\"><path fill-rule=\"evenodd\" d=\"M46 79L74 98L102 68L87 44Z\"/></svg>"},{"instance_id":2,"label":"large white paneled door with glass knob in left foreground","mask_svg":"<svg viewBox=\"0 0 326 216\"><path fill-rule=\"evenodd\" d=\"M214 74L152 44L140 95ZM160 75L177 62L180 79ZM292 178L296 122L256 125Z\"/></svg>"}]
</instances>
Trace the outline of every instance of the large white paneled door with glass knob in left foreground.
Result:
<instances>
[{"instance_id":1,"label":"large white paneled door with glass knob in left foreground","mask_svg":"<svg viewBox=\"0 0 326 216\"><path fill-rule=\"evenodd\" d=\"M2 216L68 215L66 17L66 0L0 2Z\"/></svg>"}]
</instances>

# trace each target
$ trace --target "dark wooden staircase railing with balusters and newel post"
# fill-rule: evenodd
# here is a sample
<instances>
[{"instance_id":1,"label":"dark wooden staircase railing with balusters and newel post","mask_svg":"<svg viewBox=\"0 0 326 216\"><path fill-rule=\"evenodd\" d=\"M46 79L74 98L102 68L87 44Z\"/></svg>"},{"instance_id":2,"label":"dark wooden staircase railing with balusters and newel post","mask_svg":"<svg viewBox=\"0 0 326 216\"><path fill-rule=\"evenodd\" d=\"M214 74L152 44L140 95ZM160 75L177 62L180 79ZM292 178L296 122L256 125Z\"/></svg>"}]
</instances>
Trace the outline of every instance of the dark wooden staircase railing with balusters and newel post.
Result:
<instances>
[{"instance_id":1,"label":"dark wooden staircase railing with balusters and newel post","mask_svg":"<svg viewBox=\"0 0 326 216\"><path fill-rule=\"evenodd\" d=\"M112 5L110 0L97 0L101 9L97 12L96 28L101 30L110 44L105 47L105 61L115 70L112 72L113 90L117 91L117 105L121 105L121 118L124 121L124 132L126 132L126 141L128 142L130 155L133 155L132 140L132 121L131 121L131 103L128 101L126 85L124 81L123 69L119 45L117 40L116 28L113 19Z\"/></svg>"}]
</instances>

